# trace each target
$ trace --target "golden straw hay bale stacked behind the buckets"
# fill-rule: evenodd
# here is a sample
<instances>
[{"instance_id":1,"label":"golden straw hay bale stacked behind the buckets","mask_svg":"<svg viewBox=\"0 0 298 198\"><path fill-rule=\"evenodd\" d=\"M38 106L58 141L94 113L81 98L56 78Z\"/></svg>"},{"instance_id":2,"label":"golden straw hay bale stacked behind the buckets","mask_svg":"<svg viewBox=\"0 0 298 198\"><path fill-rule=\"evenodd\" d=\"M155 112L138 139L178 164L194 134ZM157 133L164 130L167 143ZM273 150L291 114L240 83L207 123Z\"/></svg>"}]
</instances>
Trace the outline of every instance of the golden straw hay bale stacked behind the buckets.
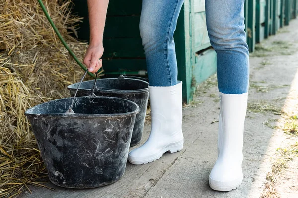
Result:
<instances>
[{"instance_id":1,"label":"golden straw hay bale stacked behind the buckets","mask_svg":"<svg viewBox=\"0 0 298 198\"><path fill-rule=\"evenodd\" d=\"M81 18L71 2L43 0L53 22L79 59L87 44L69 35ZM68 97L67 85L84 71L70 57L37 0L0 0L0 197L15 196L46 169L24 116L26 109Z\"/></svg>"}]
</instances>

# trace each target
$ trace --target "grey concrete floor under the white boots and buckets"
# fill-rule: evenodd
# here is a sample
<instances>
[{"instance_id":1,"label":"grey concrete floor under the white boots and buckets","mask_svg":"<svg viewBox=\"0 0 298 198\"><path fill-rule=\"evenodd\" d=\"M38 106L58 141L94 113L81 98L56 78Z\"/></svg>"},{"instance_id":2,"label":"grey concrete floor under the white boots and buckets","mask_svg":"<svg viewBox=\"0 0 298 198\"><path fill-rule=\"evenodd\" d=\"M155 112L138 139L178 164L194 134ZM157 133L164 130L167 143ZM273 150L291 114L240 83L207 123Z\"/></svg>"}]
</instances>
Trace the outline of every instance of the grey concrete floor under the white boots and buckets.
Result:
<instances>
[{"instance_id":1,"label":"grey concrete floor under the white boots and buckets","mask_svg":"<svg viewBox=\"0 0 298 198\"><path fill-rule=\"evenodd\" d=\"M264 125L266 120L278 119L273 112L253 112L253 104L265 102L282 107L290 92L294 78L298 78L298 20L281 33L262 42L272 51L260 52L250 58L250 108L244 132L244 180L231 192L216 192L209 188L208 176L217 157L217 127L219 113L216 85L201 86L194 97L193 106L183 109L184 149L166 153L159 160L145 164L127 163L124 176L114 184L85 190L46 185L55 189L32 187L32 194L22 198L259 198L264 189L266 174L270 171L270 157L281 142L281 134ZM289 48L280 48L283 41ZM263 57L256 57L263 56ZM211 79L215 81L215 78ZM206 85L206 83L205 83ZM209 84L210 85L210 84ZM264 86L264 90L258 90ZM206 87L209 87L206 90ZM268 89L267 89L268 88ZM262 89L262 88L261 88ZM202 90L207 91L206 93ZM142 143L149 136L150 125L145 125ZM141 144L140 144L141 145ZM138 146L140 146L138 145ZM137 147L138 147L137 146Z\"/></svg>"}]
</instances>

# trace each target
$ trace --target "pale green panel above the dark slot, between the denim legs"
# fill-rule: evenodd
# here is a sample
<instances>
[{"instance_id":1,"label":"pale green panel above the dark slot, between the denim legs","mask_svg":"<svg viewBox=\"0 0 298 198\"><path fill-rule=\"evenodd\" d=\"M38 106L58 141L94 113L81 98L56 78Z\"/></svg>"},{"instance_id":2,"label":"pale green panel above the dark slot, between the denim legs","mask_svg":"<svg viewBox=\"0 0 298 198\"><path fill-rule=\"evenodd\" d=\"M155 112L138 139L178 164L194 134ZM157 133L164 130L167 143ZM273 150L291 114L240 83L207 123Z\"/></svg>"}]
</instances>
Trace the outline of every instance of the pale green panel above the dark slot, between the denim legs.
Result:
<instances>
[{"instance_id":1,"label":"pale green panel above the dark slot, between the denim legs","mask_svg":"<svg viewBox=\"0 0 298 198\"><path fill-rule=\"evenodd\" d=\"M205 12L199 12L194 14L194 50L195 52L210 46L206 27L206 15Z\"/></svg>"}]
</instances>

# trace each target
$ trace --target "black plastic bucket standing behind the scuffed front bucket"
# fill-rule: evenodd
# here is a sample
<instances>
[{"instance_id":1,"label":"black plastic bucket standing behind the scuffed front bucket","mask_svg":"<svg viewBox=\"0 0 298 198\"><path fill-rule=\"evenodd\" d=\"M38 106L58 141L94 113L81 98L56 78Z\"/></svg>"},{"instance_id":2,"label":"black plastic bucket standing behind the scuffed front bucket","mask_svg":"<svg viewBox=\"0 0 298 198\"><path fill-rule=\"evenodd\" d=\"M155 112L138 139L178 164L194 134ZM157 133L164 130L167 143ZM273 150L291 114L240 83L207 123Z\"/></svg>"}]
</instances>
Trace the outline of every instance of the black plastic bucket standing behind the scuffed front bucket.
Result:
<instances>
[{"instance_id":1,"label":"black plastic bucket standing behind the scuffed front bucket","mask_svg":"<svg viewBox=\"0 0 298 198\"><path fill-rule=\"evenodd\" d=\"M93 84L94 80L82 82L77 92L77 96L89 96ZM96 82L97 89L94 91L96 96L128 99L135 102L140 107L140 112L136 116L136 122L130 146L138 144L142 138L149 97L148 85L148 82L142 81L140 79L123 77L97 79ZM75 83L67 87L70 90L71 96L74 96L77 86L78 83Z\"/></svg>"}]
</instances>

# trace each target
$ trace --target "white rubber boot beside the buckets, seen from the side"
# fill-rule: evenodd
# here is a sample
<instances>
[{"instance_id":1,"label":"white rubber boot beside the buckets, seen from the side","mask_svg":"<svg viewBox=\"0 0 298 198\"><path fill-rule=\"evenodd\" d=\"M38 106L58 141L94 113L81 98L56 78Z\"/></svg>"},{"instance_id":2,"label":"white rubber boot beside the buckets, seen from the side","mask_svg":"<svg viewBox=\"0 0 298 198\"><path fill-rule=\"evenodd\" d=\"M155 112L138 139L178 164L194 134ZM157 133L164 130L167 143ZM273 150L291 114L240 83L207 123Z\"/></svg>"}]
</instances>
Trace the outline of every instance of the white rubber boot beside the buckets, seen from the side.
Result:
<instances>
[{"instance_id":1,"label":"white rubber boot beside the buckets, seen from the side","mask_svg":"<svg viewBox=\"0 0 298 198\"><path fill-rule=\"evenodd\" d=\"M128 160L132 164L146 164L159 159L165 152L183 148L182 82L170 87L149 86L152 128L148 140L132 150Z\"/></svg>"}]
</instances>

